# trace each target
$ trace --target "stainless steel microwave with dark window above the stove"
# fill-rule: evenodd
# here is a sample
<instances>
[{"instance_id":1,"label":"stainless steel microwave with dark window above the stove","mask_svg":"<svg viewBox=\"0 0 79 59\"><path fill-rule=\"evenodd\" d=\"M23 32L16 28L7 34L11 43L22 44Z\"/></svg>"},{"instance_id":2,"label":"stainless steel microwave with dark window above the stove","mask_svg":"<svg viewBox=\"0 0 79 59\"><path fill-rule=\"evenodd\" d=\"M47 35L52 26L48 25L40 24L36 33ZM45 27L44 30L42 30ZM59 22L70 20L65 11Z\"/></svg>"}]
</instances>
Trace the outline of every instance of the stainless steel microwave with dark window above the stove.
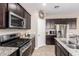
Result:
<instances>
[{"instance_id":1,"label":"stainless steel microwave with dark window above the stove","mask_svg":"<svg viewBox=\"0 0 79 59\"><path fill-rule=\"evenodd\" d=\"M9 12L9 28L25 28L25 19L13 12Z\"/></svg>"}]
</instances>

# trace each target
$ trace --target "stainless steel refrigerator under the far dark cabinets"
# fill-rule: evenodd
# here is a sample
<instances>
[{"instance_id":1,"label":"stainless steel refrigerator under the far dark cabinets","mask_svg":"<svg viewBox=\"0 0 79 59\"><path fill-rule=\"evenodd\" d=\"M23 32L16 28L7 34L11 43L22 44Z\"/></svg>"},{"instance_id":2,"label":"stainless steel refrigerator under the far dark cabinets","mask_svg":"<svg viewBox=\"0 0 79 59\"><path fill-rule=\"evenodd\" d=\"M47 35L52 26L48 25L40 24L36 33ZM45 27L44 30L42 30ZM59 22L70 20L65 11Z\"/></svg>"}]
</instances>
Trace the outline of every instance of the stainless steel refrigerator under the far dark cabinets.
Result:
<instances>
[{"instance_id":1,"label":"stainless steel refrigerator under the far dark cabinets","mask_svg":"<svg viewBox=\"0 0 79 59\"><path fill-rule=\"evenodd\" d=\"M67 37L67 24L56 24L57 38Z\"/></svg>"}]
</instances>

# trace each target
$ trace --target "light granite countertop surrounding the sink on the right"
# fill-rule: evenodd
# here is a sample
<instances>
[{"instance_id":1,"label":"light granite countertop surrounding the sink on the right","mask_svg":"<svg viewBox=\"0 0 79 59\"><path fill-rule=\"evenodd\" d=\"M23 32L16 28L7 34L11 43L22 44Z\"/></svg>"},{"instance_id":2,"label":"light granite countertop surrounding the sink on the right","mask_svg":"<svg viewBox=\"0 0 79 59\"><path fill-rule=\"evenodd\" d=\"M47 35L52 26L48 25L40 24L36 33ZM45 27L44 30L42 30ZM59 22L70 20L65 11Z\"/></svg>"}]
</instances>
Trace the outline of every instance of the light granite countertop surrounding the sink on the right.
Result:
<instances>
[{"instance_id":1,"label":"light granite countertop surrounding the sink on the right","mask_svg":"<svg viewBox=\"0 0 79 59\"><path fill-rule=\"evenodd\" d=\"M72 56L79 56L79 49L69 48L61 40L67 40L68 38L55 38Z\"/></svg>"}]
</instances>

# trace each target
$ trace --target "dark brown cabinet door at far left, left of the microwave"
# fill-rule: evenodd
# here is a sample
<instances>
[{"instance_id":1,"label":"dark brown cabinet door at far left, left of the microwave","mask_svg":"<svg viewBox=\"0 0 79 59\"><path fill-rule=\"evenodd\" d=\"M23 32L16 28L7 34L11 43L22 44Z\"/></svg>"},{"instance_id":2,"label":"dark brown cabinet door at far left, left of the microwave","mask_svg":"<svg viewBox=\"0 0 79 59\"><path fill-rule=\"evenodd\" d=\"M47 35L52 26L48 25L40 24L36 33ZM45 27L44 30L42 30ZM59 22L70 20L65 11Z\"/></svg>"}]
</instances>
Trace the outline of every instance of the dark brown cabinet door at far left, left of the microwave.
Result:
<instances>
[{"instance_id":1,"label":"dark brown cabinet door at far left, left of the microwave","mask_svg":"<svg viewBox=\"0 0 79 59\"><path fill-rule=\"evenodd\" d=\"M6 6L5 3L0 3L0 28L6 28Z\"/></svg>"}]
</instances>

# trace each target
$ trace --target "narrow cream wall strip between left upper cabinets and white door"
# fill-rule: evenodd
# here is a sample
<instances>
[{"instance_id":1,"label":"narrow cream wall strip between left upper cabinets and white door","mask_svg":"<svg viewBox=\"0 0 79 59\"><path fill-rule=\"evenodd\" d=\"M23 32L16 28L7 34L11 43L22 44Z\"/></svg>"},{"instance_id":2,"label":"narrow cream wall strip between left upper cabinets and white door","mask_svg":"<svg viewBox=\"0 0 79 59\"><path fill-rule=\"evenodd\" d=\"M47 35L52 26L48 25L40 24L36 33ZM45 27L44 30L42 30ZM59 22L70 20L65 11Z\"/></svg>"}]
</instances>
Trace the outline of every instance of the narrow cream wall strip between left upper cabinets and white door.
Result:
<instances>
[{"instance_id":1,"label":"narrow cream wall strip between left upper cabinets and white door","mask_svg":"<svg viewBox=\"0 0 79 59\"><path fill-rule=\"evenodd\" d=\"M37 21L38 20L38 13L34 13L31 15L31 32L35 34L35 48L38 46L37 40Z\"/></svg>"}]
</instances>

